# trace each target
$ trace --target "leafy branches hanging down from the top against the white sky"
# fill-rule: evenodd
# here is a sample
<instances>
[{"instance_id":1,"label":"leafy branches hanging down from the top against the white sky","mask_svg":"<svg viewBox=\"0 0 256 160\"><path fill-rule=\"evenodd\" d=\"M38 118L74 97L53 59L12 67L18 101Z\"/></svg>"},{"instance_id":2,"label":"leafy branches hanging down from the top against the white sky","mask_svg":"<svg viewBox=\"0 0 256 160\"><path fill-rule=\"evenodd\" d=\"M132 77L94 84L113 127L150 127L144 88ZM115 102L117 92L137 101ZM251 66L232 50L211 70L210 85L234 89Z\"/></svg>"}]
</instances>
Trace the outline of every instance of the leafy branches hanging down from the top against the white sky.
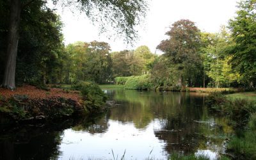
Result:
<instances>
[{"instance_id":1,"label":"leafy branches hanging down from the top against the white sky","mask_svg":"<svg viewBox=\"0 0 256 160\"><path fill-rule=\"evenodd\" d=\"M61 3L63 6L77 6L77 9L85 13L92 22L99 23L102 32L113 30L118 34L116 36L123 36L128 43L132 43L137 37L134 27L142 22L148 10L148 1L145 0L53 2Z\"/></svg>"}]
</instances>

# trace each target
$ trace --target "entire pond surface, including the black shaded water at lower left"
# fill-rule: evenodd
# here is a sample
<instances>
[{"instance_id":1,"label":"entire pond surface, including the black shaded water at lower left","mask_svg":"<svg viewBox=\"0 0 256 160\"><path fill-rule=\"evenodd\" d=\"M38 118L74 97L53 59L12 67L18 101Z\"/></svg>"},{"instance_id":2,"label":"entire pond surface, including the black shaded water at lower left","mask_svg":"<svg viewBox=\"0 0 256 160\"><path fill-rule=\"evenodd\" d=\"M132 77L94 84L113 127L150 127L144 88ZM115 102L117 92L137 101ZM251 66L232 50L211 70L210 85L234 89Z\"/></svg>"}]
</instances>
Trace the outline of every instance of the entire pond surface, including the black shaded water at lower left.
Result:
<instances>
[{"instance_id":1,"label":"entire pond surface, including the black shaded water at lower left","mask_svg":"<svg viewBox=\"0 0 256 160\"><path fill-rule=\"evenodd\" d=\"M118 104L102 115L0 132L0 159L168 159L173 152L216 159L232 134L205 95L105 90Z\"/></svg>"}]
</instances>

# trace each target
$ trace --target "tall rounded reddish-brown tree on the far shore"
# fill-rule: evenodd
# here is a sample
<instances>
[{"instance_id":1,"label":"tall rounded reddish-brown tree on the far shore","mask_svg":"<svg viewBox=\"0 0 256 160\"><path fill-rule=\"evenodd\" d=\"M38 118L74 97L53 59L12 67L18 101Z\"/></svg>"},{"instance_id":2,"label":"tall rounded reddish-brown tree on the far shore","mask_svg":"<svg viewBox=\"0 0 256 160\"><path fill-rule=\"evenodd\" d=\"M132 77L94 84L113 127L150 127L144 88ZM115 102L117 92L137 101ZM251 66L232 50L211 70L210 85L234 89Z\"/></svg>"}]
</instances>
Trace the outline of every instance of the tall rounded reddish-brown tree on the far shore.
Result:
<instances>
[{"instance_id":1,"label":"tall rounded reddish-brown tree on the far shore","mask_svg":"<svg viewBox=\"0 0 256 160\"><path fill-rule=\"evenodd\" d=\"M172 24L172 28L166 35L169 38L163 40L157 49L164 52L170 67L179 70L179 75L177 75L179 82L176 85L196 84L197 76L200 76L200 68L202 68L199 56L200 30L190 20L179 20Z\"/></svg>"}]
</instances>

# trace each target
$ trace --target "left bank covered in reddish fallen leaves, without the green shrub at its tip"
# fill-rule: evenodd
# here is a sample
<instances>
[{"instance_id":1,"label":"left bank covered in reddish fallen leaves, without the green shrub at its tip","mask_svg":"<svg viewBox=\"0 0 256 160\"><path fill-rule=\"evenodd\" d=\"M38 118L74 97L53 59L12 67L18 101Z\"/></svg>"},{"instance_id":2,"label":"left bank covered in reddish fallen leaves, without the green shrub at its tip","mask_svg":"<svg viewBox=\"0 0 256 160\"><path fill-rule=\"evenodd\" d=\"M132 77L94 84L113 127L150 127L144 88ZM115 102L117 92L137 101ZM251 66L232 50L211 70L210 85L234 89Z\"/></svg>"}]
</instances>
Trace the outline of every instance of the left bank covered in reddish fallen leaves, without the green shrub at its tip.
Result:
<instances>
[{"instance_id":1,"label":"left bank covered in reddish fallen leaves, without the green shrub at its tip","mask_svg":"<svg viewBox=\"0 0 256 160\"><path fill-rule=\"evenodd\" d=\"M0 89L1 125L44 122L84 113L79 92L60 88L42 90L25 85L16 90Z\"/></svg>"}]
</instances>

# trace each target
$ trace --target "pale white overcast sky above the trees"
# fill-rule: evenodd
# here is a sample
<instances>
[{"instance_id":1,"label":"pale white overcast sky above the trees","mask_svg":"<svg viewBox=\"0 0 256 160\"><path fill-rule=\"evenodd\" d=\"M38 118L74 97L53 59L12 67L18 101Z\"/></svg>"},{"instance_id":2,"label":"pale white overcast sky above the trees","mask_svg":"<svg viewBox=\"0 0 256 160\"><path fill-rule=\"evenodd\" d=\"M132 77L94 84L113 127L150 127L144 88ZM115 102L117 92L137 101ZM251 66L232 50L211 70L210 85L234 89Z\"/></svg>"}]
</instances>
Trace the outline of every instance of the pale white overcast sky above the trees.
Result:
<instances>
[{"instance_id":1,"label":"pale white overcast sky above the trees","mask_svg":"<svg viewBox=\"0 0 256 160\"><path fill-rule=\"evenodd\" d=\"M108 42L111 51L136 49L140 45L147 45L153 53L161 40L168 38L166 31L170 30L173 22L189 19L205 32L216 33L221 25L227 25L228 20L236 16L238 0L148 0L150 4L147 17L143 25L138 27L140 38L133 46L127 45L122 38L108 38L108 34L99 34L99 28L83 13L72 13L67 8L58 9L63 21L63 35L65 45L77 41L92 42L93 40Z\"/></svg>"}]
</instances>

